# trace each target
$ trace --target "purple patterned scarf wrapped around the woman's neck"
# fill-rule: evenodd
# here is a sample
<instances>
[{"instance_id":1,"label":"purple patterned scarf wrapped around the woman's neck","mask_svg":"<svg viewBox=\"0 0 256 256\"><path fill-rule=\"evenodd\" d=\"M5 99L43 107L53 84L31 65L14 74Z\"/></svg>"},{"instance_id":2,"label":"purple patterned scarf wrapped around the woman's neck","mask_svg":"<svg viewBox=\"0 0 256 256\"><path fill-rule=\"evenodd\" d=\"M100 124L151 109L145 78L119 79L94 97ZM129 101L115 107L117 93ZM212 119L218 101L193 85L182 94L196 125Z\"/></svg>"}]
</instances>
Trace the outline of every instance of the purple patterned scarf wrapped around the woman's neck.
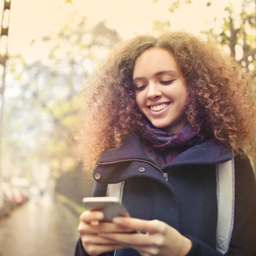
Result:
<instances>
[{"instance_id":1,"label":"purple patterned scarf wrapped around the woman's neck","mask_svg":"<svg viewBox=\"0 0 256 256\"><path fill-rule=\"evenodd\" d=\"M144 152L161 168L191 147L197 136L188 124L177 133L169 133L157 129L148 120L145 120L143 138L146 139L141 141Z\"/></svg>"}]
</instances>

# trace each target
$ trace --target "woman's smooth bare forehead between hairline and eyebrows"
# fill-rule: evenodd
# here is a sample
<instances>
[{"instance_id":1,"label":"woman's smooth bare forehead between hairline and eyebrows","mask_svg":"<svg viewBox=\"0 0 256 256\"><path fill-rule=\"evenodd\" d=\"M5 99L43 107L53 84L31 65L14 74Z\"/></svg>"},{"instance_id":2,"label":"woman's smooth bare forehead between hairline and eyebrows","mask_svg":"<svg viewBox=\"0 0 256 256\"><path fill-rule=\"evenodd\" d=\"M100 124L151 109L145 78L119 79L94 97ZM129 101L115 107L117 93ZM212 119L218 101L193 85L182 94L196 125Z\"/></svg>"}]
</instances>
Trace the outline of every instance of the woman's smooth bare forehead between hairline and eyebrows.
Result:
<instances>
[{"instance_id":1,"label":"woman's smooth bare forehead between hairline and eyebrows","mask_svg":"<svg viewBox=\"0 0 256 256\"><path fill-rule=\"evenodd\" d=\"M148 49L136 60L132 78L156 74L163 70L179 71L172 54L165 49Z\"/></svg>"}]
</instances>

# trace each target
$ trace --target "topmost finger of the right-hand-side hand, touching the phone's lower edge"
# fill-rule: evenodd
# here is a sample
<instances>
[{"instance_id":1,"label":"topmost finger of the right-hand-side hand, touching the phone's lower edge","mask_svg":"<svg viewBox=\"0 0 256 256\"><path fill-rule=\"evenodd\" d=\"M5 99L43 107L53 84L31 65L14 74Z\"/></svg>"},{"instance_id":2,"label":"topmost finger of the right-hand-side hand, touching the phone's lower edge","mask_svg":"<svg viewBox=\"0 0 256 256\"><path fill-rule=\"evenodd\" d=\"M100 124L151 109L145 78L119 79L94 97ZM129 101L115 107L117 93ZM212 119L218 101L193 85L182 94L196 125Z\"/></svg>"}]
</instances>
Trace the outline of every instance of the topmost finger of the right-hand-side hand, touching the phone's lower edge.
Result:
<instances>
[{"instance_id":1,"label":"topmost finger of the right-hand-side hand, touching the phone's lower edge","mask_svg":"<svg viewBox=\"0 0 256 256\"><path fill-rule=\"evenodd\" d=\"M166 232L168 225L159 220L140 220L136 218L116 217L113 223L122 227L131 228L140 232L149 232L150 234Z\"/></svg>"}]
</instances>

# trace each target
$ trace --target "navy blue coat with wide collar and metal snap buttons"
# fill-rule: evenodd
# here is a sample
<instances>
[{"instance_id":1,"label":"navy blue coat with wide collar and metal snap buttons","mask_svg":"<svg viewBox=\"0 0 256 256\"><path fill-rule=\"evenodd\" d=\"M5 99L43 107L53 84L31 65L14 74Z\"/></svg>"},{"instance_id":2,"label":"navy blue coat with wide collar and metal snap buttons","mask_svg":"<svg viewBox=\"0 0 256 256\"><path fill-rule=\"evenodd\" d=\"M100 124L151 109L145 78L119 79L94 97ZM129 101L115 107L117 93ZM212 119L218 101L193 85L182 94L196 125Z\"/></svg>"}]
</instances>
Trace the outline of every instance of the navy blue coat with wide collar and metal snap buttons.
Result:
<instances>
[{"instance_id":1,"label":"navy blue coat with wide collar and metal snap buttons","mask_svg":"<svg viewBox=\"0 0 256 256\"><path fill-rule=\"evenodd\" d=\"M217 140L197 141L161 168L148 158L138 137L121 148L103 152L93 171L100 174L93 196L105 196L108 184L125 180L123 204L134 218L161 220L193 242L188 256L222 255L216 252L217 197L215 164L232 159ZM139 168L145 168L140 172ZM168 173L168 181L163 177ZM230 248L225 255L256 255L256 184L248 157L235 157L235 213ZM81 240L76 256L88 255ZM113 255L113 252L102 256ZM136 250L118 250L115 256L137 256Z\"/></svg>"}]
</instances>

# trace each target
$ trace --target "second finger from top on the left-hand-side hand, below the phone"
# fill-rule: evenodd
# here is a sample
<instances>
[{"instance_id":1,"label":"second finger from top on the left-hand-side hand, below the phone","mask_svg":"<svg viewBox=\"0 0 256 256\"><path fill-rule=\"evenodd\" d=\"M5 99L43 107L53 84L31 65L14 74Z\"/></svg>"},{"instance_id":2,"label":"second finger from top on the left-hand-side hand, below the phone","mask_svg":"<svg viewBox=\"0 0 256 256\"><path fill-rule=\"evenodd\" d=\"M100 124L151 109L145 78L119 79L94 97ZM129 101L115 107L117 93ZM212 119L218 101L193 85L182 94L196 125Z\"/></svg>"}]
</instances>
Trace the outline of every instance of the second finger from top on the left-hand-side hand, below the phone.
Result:
<instances>
[{"instance_id":1,"label":"second finger from top on the left-hand-side hand, below the phone","mask_svg":"<svg viewBox=\"0 0 256 256\"><path fill-rule=\"evenodd\" d=\"M80 234L98 234L109 232L128 233L134 231L131 228L120 227L115 223L102 222L99 223L98 225L93 225L91 223L84 223L83 221L79 223L77 230Z\"/></svg>"}]
</instances>

